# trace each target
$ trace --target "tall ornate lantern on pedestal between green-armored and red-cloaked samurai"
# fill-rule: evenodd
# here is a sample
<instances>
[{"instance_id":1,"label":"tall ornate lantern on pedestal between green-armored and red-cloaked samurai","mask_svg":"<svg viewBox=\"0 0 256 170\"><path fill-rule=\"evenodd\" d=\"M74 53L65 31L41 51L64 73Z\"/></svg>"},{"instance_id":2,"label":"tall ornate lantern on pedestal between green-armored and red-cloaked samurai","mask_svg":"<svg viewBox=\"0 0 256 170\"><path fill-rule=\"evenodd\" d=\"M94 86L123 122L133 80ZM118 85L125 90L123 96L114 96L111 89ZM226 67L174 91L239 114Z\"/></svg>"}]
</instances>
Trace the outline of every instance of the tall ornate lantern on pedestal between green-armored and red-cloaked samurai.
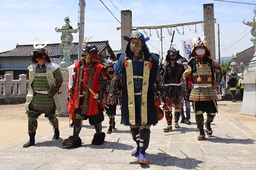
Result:
<instances>
[{"instance_id":1,"label":"tall ornate lantern on pedestal between green-armored and red-cloaked samurai","mask_svg":"<svg viewBox=\"0 0 256 170\"><path fill-rule=\"evenodd\" d=\"M55 31L57 33L62 33L60 46L63 49L63 59L60 63L60 70L61 70L61 73L62 73L63 79L64 79L62 86L60 88L60 91L61 91L60 102L61 102L61 106L63 108L63 112L56 114L56 115L67 117L68 116L67 89L68 89L68 78L69 78L67 68L68 68L68 66L73 64L71 61L71 58L70 58L70 50L71 50L72 46L74 45L74 43L72 43L72 41L74 40L72 33L77 33L79 29L78 28L73 29L72 26L70 26L69 17L65 17L64 21L66 22L66 24L64 26L62 26L61 29L58 29L58 27L55 28Z\"/></svg>"}]
</instances>

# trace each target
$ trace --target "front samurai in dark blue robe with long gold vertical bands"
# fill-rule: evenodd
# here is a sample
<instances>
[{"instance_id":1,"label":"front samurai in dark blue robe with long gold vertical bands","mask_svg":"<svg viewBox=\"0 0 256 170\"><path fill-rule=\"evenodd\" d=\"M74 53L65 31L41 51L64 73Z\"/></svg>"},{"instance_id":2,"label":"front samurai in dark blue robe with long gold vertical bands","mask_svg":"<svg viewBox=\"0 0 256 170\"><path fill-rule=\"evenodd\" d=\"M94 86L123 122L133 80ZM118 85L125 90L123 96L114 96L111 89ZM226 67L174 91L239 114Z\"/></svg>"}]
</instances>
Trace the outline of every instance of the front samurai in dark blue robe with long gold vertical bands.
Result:
<instances>
[{"instance_id":1,"label":"front samurai in dark blue robe with long gold vertical bands","mask_svg":"<svg viewBox=\"0 0 256 170\"><path fill-rule=\"evenodd\" d=\"M154 107L154 84L164 95L163 78L159 75L159 56L150 53L142 33L134 32L128 41L125 53L118 54L114 69L122 79L121 123L131 128L137 144L132 156L138 156L140 164L147 164L145 150L150 140L150 127L156 125L157 113Z\"/></svg>"}]
</instances>

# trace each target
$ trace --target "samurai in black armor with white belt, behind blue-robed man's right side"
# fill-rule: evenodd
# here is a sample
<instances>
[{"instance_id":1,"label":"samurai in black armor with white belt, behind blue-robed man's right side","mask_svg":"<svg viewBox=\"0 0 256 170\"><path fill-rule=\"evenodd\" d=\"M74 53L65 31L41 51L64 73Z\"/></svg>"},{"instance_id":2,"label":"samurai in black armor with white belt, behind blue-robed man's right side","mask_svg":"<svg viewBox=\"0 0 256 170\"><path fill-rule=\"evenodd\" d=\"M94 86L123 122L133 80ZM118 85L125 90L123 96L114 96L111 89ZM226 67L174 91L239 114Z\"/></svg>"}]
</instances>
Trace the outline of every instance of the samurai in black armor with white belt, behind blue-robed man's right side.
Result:
<instances>
[{"instance_id":1,"label":"samurai in black armor with white belt, behind blue-robed man's right side","mask_svg":"<svg viewBox=\"0 0 256 170\"><path fill-rule=\"evenodd\" d=\"M180 128L180 102L182 100L182 74L184 73L184 66L177 63L177 60L182 59L179 50L174 48L167 51L166 68L164 70L164 86L167 88L166 99L163 109L165 111L165 118L167 121L167 128L164 132L172 131L172 105L174 105L174 127Z\"/></svg>"}]
</instances>

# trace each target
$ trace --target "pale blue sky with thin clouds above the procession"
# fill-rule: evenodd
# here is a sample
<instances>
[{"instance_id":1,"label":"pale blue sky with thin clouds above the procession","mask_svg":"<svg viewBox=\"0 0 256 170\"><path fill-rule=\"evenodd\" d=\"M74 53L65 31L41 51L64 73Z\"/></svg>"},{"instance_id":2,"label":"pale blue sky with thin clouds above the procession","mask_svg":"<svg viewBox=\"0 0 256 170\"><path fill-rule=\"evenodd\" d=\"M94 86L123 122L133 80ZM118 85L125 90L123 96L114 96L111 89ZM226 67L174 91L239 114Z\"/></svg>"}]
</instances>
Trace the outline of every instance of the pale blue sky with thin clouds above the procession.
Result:
<instances>
[{"instance_id":1,"label":"pale blue sky with thin clouds above the procession","mask_svg":"<svg viewBox=\"0 0 256 170\"><path fill-rule=\"evenodd\" d=\"M218 55L218 24L220 24L221 57L232 56L253 46L250 41L252 35L243 20L251 21L255 16L255 5L241 3L225 3L212 0L102 0L109 10L120 19L121 10L132 11L132 26L163 26L196 22L204 20L203 4L214 4L214 18L216 20L216 55ZM157 2L157 3L156 3ZM253 3L255 0L241 0L239 2ZM0 52L12 50L15 45L38 42L44 44L60 43L61 33L55 27L61 28L66 16L70 17L70 25L76 29L79 9L79 0L0 0ZM93 36L91 41L109 40L113 50L121 48L121 31L116 27L120 23L113 17L100 0L86 1L84 37ZM189 27L191 31L189 31ZM177 27L173 38L174 47L182 51L182 40L189 40L204 36L202 25ZM172 29L176 30L176 29ZM140 30L143 33L143 30ZM157 38L156 30L145 31L151 33L148 47L152 52L161 54L161 41ZM158 30L160 33L160 29ZM79 34L73 34L74 41L78 42ZM171 37L167 29L163 29L163 53L169 49ZM206 38L207 40L207 38ZM183 55L183 52L181 52ZM216 56L216 59L218 56Z\"/></svg>"}]
</instances>

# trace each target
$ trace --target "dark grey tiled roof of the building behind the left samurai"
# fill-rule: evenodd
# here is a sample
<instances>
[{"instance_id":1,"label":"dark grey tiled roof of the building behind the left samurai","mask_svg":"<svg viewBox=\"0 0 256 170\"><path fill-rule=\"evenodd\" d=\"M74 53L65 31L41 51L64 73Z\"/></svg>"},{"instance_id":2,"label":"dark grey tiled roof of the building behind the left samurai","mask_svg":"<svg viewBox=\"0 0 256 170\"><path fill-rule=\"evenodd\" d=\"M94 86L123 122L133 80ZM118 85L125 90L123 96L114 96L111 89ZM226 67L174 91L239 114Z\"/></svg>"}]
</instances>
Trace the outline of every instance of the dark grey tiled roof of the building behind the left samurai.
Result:
<instances>
[{"instance_id":1,"label":"dark grey tiled roof of the building behind the left samurai","mask_svg":"<svg viewBox=\"0 0 256 170\"><path fill-rule=\"evenodd\" d=\"M88 44L95 44L98 47L98 50L102 52L104 49L108 49L111 56L116 56L109 47L108 40L101 42L88 42ZM50 58L60 58L63 52L60 46L60 43L49 43L45 46L45 49L50 50L48 55ZM33 45L16 45L15 49L8 50L5 52L0 52L0 58L29 58L31 52L35 51ZM74 46L70 50L70 56L78 55L78 43L74 43Z\"/></svg>"}]
</instances>

